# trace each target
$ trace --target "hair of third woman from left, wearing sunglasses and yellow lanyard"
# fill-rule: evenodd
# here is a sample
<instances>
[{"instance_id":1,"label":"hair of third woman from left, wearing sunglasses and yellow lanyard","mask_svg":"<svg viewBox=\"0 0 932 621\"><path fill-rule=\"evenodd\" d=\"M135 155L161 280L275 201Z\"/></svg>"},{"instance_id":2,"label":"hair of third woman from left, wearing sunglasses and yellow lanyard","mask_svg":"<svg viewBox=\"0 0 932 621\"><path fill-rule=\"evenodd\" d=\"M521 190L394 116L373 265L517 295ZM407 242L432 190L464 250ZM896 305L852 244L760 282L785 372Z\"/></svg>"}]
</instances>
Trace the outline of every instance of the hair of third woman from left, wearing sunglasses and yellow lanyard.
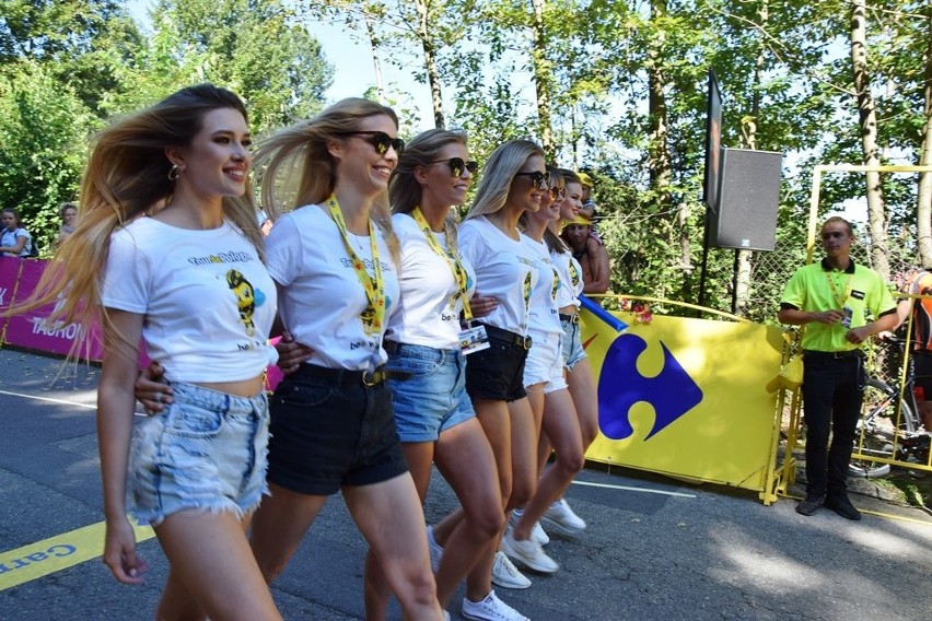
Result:
<instances>
[{"instance_id":1,"label":"hair of third woman from left, wearing sunglasses and yellow lanyard","mask_svg":"<svg viewBox=\"0 0 932 621\"><path fill-rule=\"evenodd\" d=\"M388 180L388 198L392 202L392 213L410 213L421 202L423 188L415 178L415 168L428 166L440 157L447 144L459 143L468 147L466 133L448 129L429 129L417 134L405 144L405 152L398 157L398 165ZM456 239L458 218L456 210L451 209L446 214L444 226L450 238ZM454 248L451 248L454 250Z\"/></svg>"}]
</instances>

